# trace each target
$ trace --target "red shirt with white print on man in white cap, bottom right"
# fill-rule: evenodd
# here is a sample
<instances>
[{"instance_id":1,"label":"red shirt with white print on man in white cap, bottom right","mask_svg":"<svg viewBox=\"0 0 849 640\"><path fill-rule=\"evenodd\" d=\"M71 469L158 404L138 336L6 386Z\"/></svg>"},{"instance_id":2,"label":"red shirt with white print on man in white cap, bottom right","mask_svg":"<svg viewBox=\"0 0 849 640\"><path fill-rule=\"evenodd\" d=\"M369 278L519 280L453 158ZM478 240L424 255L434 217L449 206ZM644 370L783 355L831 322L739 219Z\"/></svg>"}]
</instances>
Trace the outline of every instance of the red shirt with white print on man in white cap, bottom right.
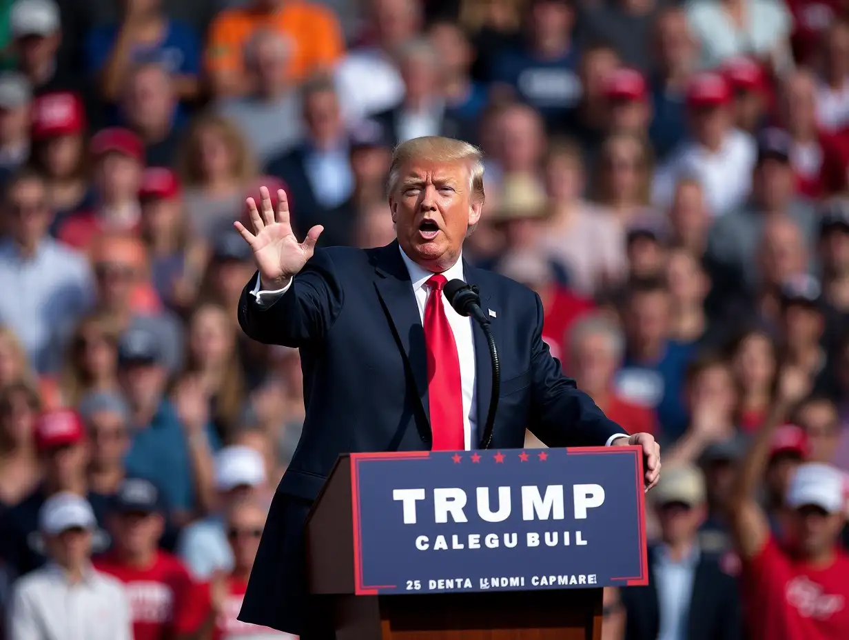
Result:
<instances>
[{"instance_id":1,"label":"red shirt with white print on man in white cap, bottom right","mask_svg":"<svg viewBox=\"0 0 849 640\"><path fill-rule=\"evenodd\" d=\"M770 537L744 566L748 626L753 640L849 638L849 556L814 569L791 558Z\"/></svg>"}]
</instances>

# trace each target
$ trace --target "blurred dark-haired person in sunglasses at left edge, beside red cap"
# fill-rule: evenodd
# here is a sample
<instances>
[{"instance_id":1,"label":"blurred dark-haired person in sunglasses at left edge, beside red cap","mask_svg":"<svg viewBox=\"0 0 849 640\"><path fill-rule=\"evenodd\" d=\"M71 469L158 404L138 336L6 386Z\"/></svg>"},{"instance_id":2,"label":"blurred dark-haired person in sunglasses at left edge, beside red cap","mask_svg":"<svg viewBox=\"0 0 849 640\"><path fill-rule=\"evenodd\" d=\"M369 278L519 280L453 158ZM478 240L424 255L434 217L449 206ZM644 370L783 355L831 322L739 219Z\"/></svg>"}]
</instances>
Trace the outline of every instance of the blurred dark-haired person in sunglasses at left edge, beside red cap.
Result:
<instances>
[{"instance_id":1,"label":"blurred dark-haired person in sunglasses at left edge, beside red cap","mask_svg":"<svg viewBox=\"0 0 849 640\"><path fill-rule=\"evenodd\" d=\"M40 410L37 390L26 382L0 388L0 510L19 504L42 480L35 439Z\"/></svg>"}]
</instances>

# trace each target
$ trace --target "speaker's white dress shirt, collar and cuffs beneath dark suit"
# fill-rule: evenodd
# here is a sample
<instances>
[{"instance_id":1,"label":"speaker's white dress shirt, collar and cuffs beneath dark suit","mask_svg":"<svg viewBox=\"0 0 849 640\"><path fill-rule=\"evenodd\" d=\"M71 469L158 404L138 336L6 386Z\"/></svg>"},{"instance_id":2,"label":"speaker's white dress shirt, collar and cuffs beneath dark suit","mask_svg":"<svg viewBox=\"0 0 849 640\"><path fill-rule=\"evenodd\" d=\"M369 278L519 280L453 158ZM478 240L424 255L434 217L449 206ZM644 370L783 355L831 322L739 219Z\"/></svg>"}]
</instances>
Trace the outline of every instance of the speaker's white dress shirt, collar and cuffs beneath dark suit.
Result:
<instances>
[{"instance_id":1,"label":"speaker's white dress shirt, collar and cuffs beneath dark suit","mask_svg":"<svg viewBox=\"0 0 849 640\"><path fill-rule=\"evenodd\" d=\"M422 321L422 325L424 325L424 306L427 303L428 296L430 296L430 286L426 286L425 283L430 280L430 276L433 275L433 272L419 267L418 264L414 263L413 260L411 260L408 255L403 252L400 246L398 249L401 252L401 258L403 259L404 265L407 267L407 271L410 275L410 282L413 286L416 304L419 307L419 319ZM446 280L449 281L463 280L465 282L466 278L463 273L463 258L459 258L452 267L443 271L442 275L444 275ZM256 301L258 303L265 306L273 303L274 300L289 291L289 287L292 286L293 280L294 278L282 289L278 289L276 291L261 291L260 277L257 275L256 285L251 293L256 297ZM475 338L472 334L472 320L471 318L458 314L451 304L448 303L448 299L444 295L442 296L442 305L445 307L448 324L451 325L451 330L454 333L454 342L457 343L457 354L460 360L460 385L462 386L463 394L464 447L466 450L471 450L476 448L479 441L477 433L477 407L475 406L477 385L475 384ZM621 437L627 438L627 434L616 433L607 440L606 445L610 445L615 439ZM472 443L475 443L475 446L473 446Z\"/></svg>"}]
</instances>

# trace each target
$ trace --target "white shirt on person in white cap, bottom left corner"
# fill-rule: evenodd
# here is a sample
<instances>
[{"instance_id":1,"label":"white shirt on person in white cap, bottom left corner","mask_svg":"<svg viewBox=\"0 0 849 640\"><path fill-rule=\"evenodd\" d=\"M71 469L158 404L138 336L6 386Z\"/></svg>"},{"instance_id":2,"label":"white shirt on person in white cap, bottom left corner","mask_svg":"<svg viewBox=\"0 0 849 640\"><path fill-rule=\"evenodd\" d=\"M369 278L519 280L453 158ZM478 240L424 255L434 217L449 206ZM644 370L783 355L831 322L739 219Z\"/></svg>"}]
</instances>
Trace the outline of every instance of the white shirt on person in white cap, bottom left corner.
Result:
<instances>
[{"instance_id":1,"label":"white shirt on person in white cap, bottom left corner","mask_svg":"<svg viewBox=\"0 0 849 640\"><path fill-rule=\"evenodd\" d=\"M47 564L13 587L8 637L14 640L130 640L132 619L120 581L88 569L72 583Z\"/></svg>"}]
</instances>

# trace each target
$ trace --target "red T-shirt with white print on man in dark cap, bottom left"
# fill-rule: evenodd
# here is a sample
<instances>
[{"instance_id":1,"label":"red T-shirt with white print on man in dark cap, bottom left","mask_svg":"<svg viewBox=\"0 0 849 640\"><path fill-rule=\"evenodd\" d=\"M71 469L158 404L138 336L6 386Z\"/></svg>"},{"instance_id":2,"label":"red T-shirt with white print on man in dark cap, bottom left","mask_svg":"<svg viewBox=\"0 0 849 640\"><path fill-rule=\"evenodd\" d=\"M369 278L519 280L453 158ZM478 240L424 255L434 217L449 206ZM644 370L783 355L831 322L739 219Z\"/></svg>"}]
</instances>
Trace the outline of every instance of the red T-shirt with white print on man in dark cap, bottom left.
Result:
<instances>
[{"instance_id":1,"label":"red T-shirt with white print on man in dark cap, bottom left","mask_svg":"<svg viewBox=\"0 0 849 640\"><path fill-rule=\"evenodd\" d=\"M95 559L94 568L124 583L135 640L162 640L197 629L192 617L197 587L175 556L157 552L154 564L137 569L108 555Z\"/></svg>"}]
</instances>

